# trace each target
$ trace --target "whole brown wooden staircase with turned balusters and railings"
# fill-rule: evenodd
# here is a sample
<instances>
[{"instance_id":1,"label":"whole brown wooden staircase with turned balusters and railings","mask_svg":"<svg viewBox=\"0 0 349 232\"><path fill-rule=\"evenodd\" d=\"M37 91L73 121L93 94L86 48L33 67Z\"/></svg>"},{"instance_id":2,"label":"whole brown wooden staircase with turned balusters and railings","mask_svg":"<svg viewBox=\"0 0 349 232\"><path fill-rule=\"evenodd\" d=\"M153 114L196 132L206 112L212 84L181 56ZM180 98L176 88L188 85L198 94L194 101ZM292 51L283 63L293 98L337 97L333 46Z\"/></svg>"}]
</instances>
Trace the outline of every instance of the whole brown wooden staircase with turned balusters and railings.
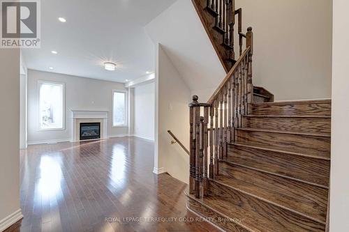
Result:
<instances>
[{"instance_id":1,"label":"whole brown wooden staircase with turned balusters and railings","mask_svg":"<svg viewBox=\"0 0 349 232\"><path fill-rule=\"evenodd\" d=\"M233 0L193 3L229 71L207 103L194 95L189 105L188 208L224 231L325 231L331 100L274 102L252 83L251 28L239 26L246 48L232 56L232 18L241 22L242 9Z\"/></svg>"}]
</instances>

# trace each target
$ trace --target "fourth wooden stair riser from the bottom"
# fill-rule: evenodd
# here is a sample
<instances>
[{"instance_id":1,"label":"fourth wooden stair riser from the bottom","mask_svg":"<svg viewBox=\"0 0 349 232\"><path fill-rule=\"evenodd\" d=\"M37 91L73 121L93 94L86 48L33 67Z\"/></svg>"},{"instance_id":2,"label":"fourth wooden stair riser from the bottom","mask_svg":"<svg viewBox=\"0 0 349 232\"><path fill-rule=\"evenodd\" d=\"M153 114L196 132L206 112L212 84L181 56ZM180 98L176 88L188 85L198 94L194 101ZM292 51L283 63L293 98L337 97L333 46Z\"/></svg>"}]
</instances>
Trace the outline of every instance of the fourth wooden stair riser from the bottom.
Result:
<instances>
[{"instance_id":1,"label":"fourth wooden stair riser from the bottom","mask_svg":"<svg viewBox=\"0 0 349 232\"><path fill-rule=\"evenodd\" d=\"M228 146L229 160L235 164L328 187L329 160L235 145Z\"/></svg>"}]
</instances>

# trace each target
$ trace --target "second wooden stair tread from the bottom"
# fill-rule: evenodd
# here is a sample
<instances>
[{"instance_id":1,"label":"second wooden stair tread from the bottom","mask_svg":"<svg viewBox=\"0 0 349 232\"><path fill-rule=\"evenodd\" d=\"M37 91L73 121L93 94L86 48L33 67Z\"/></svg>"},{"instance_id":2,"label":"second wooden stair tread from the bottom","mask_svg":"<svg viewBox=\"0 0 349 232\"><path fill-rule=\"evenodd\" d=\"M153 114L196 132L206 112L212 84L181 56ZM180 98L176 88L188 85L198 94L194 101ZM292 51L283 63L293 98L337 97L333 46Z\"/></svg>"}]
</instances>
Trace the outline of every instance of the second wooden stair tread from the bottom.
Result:
<instances>
[{"instance_id":1,"label":"second wooden stair tread from the bottom","mask_svg":"<svg viewBox=\"0 0 349 232\"><path fill-rule=\"evenodd\" d=\"M252 194L264 201L316 219L326 221L328 190L253 169L221 162L215 181Z\"/></svg>"}]
</instances>

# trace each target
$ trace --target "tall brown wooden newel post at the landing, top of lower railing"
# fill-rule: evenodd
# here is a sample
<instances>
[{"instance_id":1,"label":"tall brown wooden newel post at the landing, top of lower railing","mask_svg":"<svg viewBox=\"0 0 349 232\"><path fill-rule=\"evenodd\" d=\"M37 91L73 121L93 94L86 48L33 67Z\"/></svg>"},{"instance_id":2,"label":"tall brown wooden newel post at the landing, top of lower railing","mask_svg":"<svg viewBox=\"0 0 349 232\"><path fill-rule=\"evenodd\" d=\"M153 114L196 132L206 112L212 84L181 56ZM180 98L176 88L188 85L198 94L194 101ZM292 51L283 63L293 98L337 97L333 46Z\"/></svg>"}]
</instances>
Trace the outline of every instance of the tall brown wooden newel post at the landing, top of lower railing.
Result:
<instances>
[{"instance_id":1,"label":"tall brown wooden newel post at the landing, top of lower railing","mask_svg":"<svg viewBox=\"0 0 349 232\"><path fill-rule=\"evenodd\" d=\"M253 56L253 32L252 27L248 27L246 33L246 47L251 47L248 52L248 72L247 72L247 105L253 103L253 84L252 84L252 56ZM248 107L249 108L249 107ZM248 114L249 112L247 112Z\"/></svg>"}]
</instances>

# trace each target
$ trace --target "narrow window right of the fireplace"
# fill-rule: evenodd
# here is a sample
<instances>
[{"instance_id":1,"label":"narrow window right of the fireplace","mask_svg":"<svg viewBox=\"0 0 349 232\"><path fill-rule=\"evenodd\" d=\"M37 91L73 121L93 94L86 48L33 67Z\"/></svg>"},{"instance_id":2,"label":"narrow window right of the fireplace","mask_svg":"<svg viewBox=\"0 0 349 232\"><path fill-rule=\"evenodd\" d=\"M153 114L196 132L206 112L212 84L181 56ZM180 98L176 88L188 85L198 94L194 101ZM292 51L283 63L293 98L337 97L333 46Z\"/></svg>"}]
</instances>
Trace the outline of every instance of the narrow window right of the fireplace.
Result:
<instances>
[{"instance_id":1,"label":"narrow window right of the fireplace","mask_svg":"<svg viewBox=\"0 0 349 232\"><path fill-rule=\"evenodd\" d=\"M112 125L126 126L126 92L124 91L112 93Z\"/></svg>"}]
</instances>

